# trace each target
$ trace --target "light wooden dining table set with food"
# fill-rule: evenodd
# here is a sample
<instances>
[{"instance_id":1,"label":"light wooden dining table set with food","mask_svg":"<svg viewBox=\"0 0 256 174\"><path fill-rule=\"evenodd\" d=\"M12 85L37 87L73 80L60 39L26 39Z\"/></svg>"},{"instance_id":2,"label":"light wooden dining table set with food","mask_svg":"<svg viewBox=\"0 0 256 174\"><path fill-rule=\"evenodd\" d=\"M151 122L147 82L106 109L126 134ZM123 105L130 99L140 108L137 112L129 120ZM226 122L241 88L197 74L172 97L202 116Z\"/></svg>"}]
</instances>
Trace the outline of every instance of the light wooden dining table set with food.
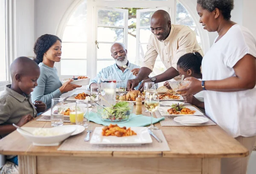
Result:
<instances>
[{"instance_id":1,"label":"light wooden dining table set with food","mask_svg":"<svg viewBox=\"0 0 256 174\"><path fill-rule=\"evenodd\" d=\"M150 117L144 106L142 110ZM50 128L51 122L36 121L40 117L24 127ZM220 174L222 158L249 154L218 125L155 126L163 132L170 151L59 151L59 146L34 146L13 131L0 140L0 154L18 155L20 174Z\"/></svg>"}]
</instances>

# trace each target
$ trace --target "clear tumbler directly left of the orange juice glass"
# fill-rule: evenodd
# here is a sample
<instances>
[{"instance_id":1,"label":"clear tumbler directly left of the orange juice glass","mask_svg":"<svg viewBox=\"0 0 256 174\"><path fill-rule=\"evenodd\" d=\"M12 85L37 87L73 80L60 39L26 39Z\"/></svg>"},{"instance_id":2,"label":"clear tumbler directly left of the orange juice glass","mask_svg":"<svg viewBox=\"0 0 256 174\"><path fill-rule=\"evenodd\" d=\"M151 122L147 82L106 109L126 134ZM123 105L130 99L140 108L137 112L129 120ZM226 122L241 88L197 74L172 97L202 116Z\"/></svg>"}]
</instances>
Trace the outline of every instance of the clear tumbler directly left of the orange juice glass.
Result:
<instances>
[{"instance_id":1,"label":"clear tumbler directly left of the orange juice glass","mask_svg":"<svg viewBox=\"0 0 256 174\"><path fill-rule=\"evenodd\" d=\"M61 98L53 98L51 103L51 126L62 126L64 122L64 103Z\"/></svg>"}]
</instances>

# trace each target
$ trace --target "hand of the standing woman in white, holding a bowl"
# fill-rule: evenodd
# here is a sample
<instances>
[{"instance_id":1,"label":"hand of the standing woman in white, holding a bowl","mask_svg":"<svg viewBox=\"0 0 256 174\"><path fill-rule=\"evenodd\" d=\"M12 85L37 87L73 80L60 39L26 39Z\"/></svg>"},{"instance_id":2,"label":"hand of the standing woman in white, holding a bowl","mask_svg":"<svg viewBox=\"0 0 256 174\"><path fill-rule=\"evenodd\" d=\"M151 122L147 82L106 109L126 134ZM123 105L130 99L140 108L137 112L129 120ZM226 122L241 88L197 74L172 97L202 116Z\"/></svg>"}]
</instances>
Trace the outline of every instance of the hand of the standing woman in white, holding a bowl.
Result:
<instances>
[{"instance_id":1,"label":"hand of the standing woman in white, holding a bowl","mask_svg":"<svg viewBox=\"0 0 256 174\"><path fill-rule=\"evenodd\" d=\"M183 95L194 95L203 90L201 87L201 81L196 79L195 77L187 77L185 80L189 80L189 86L186 88L178 89L177 92L185 92Z\"/></svg>"}]
</instances>

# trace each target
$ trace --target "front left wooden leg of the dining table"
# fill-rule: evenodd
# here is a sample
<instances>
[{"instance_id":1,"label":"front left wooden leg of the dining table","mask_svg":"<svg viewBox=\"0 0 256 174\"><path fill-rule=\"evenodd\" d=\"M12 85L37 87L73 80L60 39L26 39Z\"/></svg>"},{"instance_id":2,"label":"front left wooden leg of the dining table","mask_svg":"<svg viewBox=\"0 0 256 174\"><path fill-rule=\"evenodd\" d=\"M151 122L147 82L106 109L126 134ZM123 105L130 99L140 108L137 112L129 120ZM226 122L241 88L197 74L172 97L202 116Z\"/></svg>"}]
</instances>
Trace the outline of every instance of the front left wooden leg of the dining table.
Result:
<instances>
[{"instance_id":1,"label":"front left wooden leg of the dining table","mask_svg":"<svg viewBox=\"0 0 256 174\"><path fill-rule=\"evenodd\" d=\"M37 174L36 156L18 156L19 174Z\"/></svg>"}]
</instances>

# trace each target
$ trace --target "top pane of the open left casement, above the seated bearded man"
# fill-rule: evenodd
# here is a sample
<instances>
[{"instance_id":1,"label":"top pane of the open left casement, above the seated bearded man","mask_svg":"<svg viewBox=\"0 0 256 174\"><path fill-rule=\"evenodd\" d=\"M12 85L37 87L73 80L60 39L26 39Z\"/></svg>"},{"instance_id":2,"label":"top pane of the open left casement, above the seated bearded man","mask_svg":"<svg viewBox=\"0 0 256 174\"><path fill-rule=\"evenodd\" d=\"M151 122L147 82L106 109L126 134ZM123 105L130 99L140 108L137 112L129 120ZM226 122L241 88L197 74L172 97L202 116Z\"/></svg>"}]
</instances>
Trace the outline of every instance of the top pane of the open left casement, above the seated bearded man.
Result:
<instances>
[{"instance_id":1,"label":"top pane of the open left casement, above the seated bearded man","mask_svg":"<svg viewBox=\"0 0 256 174\"><path fill-rule=\"evenodd\" d=\"M98 24L105 26L124 26L124 13L121 11L99 10Z\"/></svg>"}]
</instances>

